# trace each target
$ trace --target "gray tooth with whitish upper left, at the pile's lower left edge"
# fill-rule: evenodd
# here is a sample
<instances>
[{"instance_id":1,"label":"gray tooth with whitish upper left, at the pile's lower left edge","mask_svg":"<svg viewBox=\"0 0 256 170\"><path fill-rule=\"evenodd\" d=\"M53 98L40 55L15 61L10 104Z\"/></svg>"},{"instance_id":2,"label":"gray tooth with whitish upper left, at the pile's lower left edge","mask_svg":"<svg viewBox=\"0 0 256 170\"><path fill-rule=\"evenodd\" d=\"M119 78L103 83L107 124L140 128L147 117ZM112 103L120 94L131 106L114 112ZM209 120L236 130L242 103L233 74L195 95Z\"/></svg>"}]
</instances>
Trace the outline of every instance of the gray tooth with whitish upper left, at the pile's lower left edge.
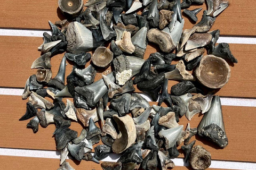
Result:
<instances>
[{"instance_id":1,"label":"gray tooth with whitish upper left, at the pile's lower left edge","mask_svg":"<svg viewBox=\"0 0 256 170\"><path fill-rule=\"evenodd\" d=\"M69 153L78 161L81 161L84 156L84 147L85 143L81 142L79 144L70 144L68 143Z\"/></svg>"}]
</instances>

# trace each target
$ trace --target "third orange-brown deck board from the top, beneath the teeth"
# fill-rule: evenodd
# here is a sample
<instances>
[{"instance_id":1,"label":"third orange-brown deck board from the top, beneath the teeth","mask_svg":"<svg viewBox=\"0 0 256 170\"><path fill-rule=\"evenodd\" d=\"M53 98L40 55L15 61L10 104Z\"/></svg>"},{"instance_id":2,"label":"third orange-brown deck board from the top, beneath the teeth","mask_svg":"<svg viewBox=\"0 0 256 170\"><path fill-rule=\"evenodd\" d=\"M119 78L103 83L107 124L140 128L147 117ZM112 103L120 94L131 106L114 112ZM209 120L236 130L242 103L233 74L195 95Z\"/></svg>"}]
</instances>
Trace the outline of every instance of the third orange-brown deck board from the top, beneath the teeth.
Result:
<instances>
[{"instance_id":1,"label":"third orange-brown deck board from the top, beneath the teeth","mask_svg":"<svg viewBox=\"0 0 256 170\"><path fill-rule=\"evenodd\" d=\"M153 105L156 103L150 103ZM19 118L26 111L26 101L21 100L20 96L0 96L0 147L55 150L55 140L53 132L55 126L49 125L47 128L39 126L36 134L31 129L26 129L29 120L19 121ZM229 139L229 145L225 149L219 149L210 142L196 137L196 145L202 145L211 152L214 160L234 160L244 162L256 162L252 156L256 151L256 107L236 107L223 106L223 118ZM246 117L246 118L242 118ZM195 128L199 124L202 115L195 115L190 121L190 127ZM250 120L250 121L249 121ZM186 127L189 121L185 116L180 119L179 124ZM70 129L81 132L82 126L72 122ZM247 133L246 133L247 132ZM250 134L250 135L249 135ZM191 139L194 140L195 138ZM180 152L182 152L180 150ZM179 157L183 158L183 154Z\"/></svg>"}]
</instances>

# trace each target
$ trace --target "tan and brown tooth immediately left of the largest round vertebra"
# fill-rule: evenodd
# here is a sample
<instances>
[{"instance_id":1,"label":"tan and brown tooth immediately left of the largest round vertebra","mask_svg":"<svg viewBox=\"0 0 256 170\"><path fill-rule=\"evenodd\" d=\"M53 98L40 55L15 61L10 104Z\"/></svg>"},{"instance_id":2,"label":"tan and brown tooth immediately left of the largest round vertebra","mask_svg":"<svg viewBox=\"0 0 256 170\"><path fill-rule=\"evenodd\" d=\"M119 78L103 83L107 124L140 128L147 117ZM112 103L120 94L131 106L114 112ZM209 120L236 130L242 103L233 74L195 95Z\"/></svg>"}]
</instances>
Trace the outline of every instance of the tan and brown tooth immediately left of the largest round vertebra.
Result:
<instances>
[{"instance_id":1,"label":"tan and brown tooth immediately left of the largest round vertebra","mask_svg":"<svg viewBox=\"0 0 256 170\"><path fill-rule=\"evenodd\" d=\"M195 81L195 78L192 74L186 71L186 66L182 60L180 60L175 67L175 70L171 72L164 73L165 78L169 80L188 80Z\"/></svg>"}]
</instances>

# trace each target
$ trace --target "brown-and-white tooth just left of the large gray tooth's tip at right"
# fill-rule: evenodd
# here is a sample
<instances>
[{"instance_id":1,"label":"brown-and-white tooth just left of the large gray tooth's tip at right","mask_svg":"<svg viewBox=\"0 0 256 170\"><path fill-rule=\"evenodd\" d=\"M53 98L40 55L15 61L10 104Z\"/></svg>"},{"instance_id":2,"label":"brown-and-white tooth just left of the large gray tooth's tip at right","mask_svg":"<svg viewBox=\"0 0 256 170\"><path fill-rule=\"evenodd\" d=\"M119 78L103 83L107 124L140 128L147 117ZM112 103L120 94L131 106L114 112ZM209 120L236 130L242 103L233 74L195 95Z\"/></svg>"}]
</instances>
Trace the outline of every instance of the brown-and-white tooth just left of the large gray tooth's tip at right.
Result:
<instances>
[{"instance_id":1,"label":"brown-and-white tooth just left of the large gray tooth's tip at right","mask_svg":"<svg viewBox=\"0 0 256 170\"><path fill-rule=\"evenodd\" d=\"M212 97L213 95L206 95L203 96L201 94L197 94L193 96L193 100L196 101L202 108L202 114L209 111L212 103Z\"/></svg>"}]
</instances>

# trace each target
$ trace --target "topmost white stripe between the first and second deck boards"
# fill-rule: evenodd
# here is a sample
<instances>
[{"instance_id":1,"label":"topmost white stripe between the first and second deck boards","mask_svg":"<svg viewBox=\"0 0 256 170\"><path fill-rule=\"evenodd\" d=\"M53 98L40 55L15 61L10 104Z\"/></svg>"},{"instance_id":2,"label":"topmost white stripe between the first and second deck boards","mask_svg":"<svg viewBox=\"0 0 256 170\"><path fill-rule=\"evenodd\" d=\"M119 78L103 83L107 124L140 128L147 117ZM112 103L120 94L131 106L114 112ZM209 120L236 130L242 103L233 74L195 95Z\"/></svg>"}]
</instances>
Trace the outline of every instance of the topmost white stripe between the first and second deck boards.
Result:
<instances>
[{"instance_id":1,"label":"topmost white stripe between the first and second deck boards","mask_svg":"<svg viewBox=\"0 0 256 170\"><path fill-rule=\"evenodd\" d=\"M2 28L2 29L0 29L0 36L43 37L44 32L47 32L51 35L50 26L49 26L49 30L4 29L4 28ZM220 36L217 43L256 44L256 38Z\"/></svg>"}]
</instances>

